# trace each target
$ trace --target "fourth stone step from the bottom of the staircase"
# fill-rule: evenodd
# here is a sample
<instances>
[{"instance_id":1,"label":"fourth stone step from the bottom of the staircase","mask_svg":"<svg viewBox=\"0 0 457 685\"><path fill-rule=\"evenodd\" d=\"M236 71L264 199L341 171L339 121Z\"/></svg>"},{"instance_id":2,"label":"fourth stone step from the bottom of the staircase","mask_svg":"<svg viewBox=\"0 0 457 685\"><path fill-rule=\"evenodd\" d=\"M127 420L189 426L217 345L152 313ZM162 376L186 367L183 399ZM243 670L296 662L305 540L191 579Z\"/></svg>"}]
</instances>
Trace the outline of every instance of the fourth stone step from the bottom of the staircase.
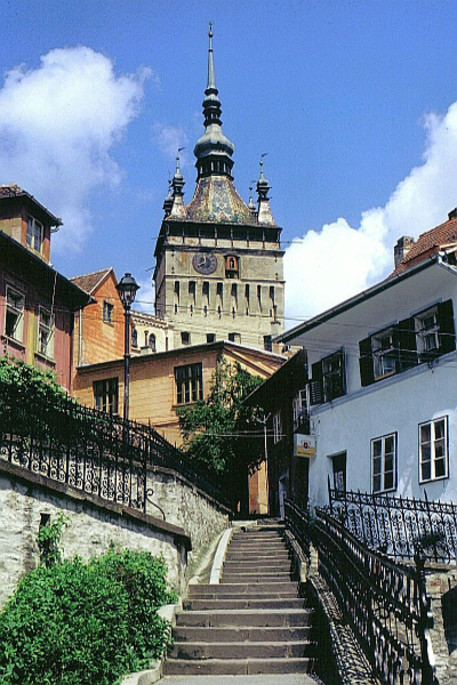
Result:
<instances>
[{"instance_id":1,"label":"fourth stone step from the bottom of the staircase","mask_svg":"<svg viewBox=\"0 0 457 685\"><path fill-rule=\"evenodd\" d=\"M201 628L290 628L310 624L312 610L309 608L181 611L176 614L177 626Z\"/></svg>"}]
</instances>

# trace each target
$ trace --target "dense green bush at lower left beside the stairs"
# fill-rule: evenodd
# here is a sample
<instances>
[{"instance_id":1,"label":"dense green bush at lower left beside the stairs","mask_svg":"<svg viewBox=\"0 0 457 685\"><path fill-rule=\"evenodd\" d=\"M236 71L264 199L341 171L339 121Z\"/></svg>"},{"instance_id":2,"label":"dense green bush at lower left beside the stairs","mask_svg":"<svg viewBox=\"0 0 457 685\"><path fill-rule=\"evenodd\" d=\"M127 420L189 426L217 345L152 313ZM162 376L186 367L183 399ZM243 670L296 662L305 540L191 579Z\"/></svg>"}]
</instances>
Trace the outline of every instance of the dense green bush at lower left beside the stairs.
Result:
<instances>
[{"instance_id":1,"label":"dense green bush at lower left beside the stairs","mask_svg":"<svg viewBox=\"0 0 457 685\"><path fill-rule=\"evenodd\" d=\"M112 685L160 655L168 631L156 610L174 599L147 552L42 564L0 614L0 683Z\"/></svg>"}]
</instances>

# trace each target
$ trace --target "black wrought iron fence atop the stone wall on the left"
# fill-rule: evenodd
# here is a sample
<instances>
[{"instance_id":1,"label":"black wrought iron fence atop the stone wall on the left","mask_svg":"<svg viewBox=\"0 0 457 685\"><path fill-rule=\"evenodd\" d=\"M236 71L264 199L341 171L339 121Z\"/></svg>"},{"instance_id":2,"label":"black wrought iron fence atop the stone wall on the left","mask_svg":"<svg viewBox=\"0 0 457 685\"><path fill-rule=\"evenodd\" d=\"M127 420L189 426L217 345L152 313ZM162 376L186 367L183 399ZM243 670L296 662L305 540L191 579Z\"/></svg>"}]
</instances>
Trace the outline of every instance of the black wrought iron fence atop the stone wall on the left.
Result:
<instances>
[{"instance_id":1,"label":"black wrought iron fence atop the stone wall on the left","mask_svg":"<svg viewBox=\"0 0 457 685\"><path fill-rule=\"evenodd\" d=\"M162 466L226 503L183 452L153 428L124 421L51 392L33 398L0 381L0 458L33 473L146 512L147 473ZM151 504L153 504L151 502Z\"/></svg>"}]
</instances>

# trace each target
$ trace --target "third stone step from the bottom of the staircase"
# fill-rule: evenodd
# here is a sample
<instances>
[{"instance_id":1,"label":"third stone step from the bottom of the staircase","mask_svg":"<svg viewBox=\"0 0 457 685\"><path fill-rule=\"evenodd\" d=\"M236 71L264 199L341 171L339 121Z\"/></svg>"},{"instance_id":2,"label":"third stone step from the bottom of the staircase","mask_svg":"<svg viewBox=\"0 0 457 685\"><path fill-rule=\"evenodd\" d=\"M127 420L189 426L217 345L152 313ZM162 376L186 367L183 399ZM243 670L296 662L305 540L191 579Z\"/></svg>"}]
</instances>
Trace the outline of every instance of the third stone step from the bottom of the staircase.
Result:
<instances>
[{"instance_id":1,"label":"third stone step from the bottom of the staircase","mask_svg":"<svg viewBox=\"0 0 457 685\"><path fill-rule=\"evenodd\" d=\"M176 642L284 642L306 640L311 627L306 626L176 626L173 633Z\"/></svg>"}]
</instances>

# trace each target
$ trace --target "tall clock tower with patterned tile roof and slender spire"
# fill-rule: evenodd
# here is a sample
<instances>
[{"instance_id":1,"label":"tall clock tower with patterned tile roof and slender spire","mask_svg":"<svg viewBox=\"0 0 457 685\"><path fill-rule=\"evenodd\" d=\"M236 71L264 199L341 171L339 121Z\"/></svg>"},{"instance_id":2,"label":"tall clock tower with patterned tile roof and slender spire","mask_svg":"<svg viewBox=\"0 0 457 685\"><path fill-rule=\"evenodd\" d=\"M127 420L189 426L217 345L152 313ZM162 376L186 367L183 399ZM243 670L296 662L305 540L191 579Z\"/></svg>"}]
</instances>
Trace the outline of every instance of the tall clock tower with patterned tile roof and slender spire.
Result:
<instances>
[{"instance_id":1,"label":"tall clock tower with patterned tile roof and slender spire","mask_svg":"<svg viewBox=\"0 0 457 685\"><path fill-rule=\"evenodd\" d=\"M174 347L231 340L270 350L284 329L281 228L271 213L263 162L256 204L252 197L246 204L234 186L234 145L222 131L212 39L210 25L194 196L184 203L178 153L163 205L154 253L156 315L173 324Z\"/></svg>"}]
</instances>

